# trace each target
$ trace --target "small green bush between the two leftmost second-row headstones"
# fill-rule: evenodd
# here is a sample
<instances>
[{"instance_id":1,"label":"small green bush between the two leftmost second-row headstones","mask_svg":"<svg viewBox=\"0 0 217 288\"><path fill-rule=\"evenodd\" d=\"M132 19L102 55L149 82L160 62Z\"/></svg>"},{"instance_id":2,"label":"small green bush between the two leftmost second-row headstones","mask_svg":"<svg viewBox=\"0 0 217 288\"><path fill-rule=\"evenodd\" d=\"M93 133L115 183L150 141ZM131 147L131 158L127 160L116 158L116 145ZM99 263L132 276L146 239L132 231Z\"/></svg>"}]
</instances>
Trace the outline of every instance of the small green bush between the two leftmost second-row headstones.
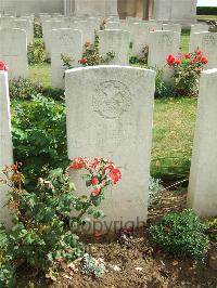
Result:
<instances>
[{"instance_id":1,"label":"small green bush between the two leftmost second-row headstones","mask_svg":"<svg viewBox=\"0 0 217 288\"><path fill-rule=\"evenodd\" d=\"M37 39L28 45L28 64L36 65L46 61L46 49L42 39Z\"/></svg>"}]
</instances>

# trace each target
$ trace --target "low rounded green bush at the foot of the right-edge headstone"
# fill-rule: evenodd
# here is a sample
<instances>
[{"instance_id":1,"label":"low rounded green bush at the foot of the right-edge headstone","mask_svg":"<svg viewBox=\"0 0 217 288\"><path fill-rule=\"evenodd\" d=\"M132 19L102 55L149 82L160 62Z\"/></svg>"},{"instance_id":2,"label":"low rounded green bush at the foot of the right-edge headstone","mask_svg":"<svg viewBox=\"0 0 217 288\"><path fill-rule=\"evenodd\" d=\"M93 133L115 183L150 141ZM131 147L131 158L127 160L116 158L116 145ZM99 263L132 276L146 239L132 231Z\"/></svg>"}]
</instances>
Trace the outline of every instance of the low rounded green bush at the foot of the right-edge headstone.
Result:
<instances>
[{"instance_id":1,"label":"low rounded green bush at the foot of the right-edge headstone","mask_svg":"<svg viewBox=\"0 0 217 288\"><path fill-rule=\"evenodd\" d=\"M192 210L167 213L157 224L149 228L152 239L164 251L179 257L204 260L208 238L205 225Z\"/></svg>"}]
</instances>

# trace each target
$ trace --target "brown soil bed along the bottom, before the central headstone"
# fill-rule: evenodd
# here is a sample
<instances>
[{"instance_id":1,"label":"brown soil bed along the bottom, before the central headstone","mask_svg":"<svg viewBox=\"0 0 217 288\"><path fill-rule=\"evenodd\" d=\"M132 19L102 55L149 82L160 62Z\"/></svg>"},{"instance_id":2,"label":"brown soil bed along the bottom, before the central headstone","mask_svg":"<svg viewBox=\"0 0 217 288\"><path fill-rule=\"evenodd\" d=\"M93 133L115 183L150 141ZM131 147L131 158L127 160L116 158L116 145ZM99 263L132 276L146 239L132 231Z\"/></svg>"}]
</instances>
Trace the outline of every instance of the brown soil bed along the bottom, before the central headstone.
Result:
<instances>
[{"instance_id":1,"label":"brown soil bed along the bottom, before the central headstone","mask_svg":"<svg viewBox=\"0 0 217 288\"><path fill-rule=\"evenodd\" d=\"M166 212L181 211L186 208L186 192L165 192L150 207L148 226ZM104 236L100 239L90 237L86 238L86 243L88 252L97 258L103 258L106 263L106 273L102 278L84 276L79 266L78 271L75 266L71 266L55 283L49 284L42 278L24 276L23 271L23 276L18 275L16 287L217 287L217 271L208 265L208 259L201 264L189 259L180 260L165 254L150 243L145 227L135 232L135 240L130 248L117 244L114 236Z\"/></svg>"}]
</instances>

